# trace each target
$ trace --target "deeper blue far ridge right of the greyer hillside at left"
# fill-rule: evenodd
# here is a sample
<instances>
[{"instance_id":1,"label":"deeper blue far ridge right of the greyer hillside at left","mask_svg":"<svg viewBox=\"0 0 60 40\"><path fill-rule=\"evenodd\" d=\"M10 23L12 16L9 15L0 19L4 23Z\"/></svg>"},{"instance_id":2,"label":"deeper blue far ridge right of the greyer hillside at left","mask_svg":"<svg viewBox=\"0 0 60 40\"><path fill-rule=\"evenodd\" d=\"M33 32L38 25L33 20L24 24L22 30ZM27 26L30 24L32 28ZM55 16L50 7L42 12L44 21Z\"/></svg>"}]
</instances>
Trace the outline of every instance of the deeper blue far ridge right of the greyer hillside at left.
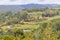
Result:
<instances>
[{"instance_id":1,"label":"deeper blue far ridge right of the greyer hillside at left","mask_svg":"<svg viewBox=\"0 0 60 40\"><path fill-rule=\"evenodd\" d=\"M26 5L21 5L21 7L24 8L30 8L30 7L38 7L38 8L44 8L44 7L48 7L48 8L52 8L55 6L60 6L59 4L26 4Z\"/></svg>"}]
</instances>

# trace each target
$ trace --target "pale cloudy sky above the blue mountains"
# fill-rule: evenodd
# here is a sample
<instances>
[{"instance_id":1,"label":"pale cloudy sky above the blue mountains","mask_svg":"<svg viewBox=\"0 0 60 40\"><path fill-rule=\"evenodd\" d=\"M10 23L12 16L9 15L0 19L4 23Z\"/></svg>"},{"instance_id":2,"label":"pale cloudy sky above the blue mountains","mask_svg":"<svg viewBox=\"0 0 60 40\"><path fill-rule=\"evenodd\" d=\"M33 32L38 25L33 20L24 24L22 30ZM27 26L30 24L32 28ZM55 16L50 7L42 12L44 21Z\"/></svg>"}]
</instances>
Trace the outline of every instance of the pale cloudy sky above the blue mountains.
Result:
<instances>
[{"instance_id":1,"label":"pale cloudy sky above the blue mountains","mask_svg":"<svg viewBox=\"0 0 60 40\"><path fill-rule=\"evenodd\" d=\"M0 5L60 4L60 0L0 0Z\"/></svg>"}]
</instances>

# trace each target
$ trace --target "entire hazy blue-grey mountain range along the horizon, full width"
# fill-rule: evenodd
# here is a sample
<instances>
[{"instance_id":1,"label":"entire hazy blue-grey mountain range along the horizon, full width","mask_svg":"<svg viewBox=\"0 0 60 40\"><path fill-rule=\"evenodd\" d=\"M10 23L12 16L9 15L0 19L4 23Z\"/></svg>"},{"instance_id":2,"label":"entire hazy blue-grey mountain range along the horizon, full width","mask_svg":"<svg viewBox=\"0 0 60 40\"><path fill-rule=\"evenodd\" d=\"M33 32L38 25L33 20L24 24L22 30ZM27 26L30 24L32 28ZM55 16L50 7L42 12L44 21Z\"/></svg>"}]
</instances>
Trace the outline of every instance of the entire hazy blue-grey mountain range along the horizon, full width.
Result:
<instances>
[{"instance_id":1,"label":"entire hazy blue-grey mountain range along the horizon, full width","mask_svg":"<svg viewBox=\"0 0 60 40\"><path fill-rule=\"evenodd\" d=\"M48 7L52 8L55 6L60 6L58 4L25 4L25 5L0 5L0 11L18 11L25 8L37 7L43 8Z\"/></svg>"}]
</instances>

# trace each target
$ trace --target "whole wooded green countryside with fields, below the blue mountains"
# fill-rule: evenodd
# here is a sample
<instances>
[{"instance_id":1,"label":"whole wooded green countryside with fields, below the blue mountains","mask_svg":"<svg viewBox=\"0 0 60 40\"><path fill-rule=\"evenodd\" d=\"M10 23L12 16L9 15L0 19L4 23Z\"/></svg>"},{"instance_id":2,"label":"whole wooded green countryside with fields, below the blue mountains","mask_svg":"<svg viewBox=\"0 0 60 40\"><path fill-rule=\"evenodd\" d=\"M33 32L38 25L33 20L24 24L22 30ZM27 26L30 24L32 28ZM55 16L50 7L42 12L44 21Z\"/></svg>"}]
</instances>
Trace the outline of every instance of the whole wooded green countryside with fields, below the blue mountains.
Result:
<instances>
[{"instance_id":1,"label":"whole wooded green countryside with fields, below the blue mountains","mask_svg":"<svg viewBox=\"0 0 60 40\"><path fill-rule=\"evenodd\" d=\"M60 40L60 9L0 12L0 40Z\"/></svg>"}]
</instances>

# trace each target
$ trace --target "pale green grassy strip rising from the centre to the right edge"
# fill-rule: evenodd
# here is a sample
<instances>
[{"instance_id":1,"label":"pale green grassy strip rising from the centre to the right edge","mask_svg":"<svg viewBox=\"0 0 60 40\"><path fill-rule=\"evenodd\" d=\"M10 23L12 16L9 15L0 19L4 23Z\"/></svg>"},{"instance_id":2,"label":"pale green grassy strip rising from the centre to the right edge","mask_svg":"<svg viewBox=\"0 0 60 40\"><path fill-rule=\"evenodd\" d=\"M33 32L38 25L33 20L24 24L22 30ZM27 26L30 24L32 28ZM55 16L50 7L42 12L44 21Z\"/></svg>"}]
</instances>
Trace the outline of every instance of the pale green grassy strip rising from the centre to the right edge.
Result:
<instances>
[{"instance_id":1,"label":"pale green grassy strip rising from the centre to the right edge","mask_svg":"<svg viewBox=\"0 0 60 40\"><path fill-rule=\"evenodd\" d=\"M51 20L59 19L59 18L60 18L60 16L55 16L55 17L51 17L48 20L45 20L45 21L42 21L42 22L39 22L39 23L49 22ZM28 24L20 25L19 27L15 27L15 28L20 28L20 29L37 29L39 27L39 23L37 25L28 25Z\"/></svg>"}]
</instances>

